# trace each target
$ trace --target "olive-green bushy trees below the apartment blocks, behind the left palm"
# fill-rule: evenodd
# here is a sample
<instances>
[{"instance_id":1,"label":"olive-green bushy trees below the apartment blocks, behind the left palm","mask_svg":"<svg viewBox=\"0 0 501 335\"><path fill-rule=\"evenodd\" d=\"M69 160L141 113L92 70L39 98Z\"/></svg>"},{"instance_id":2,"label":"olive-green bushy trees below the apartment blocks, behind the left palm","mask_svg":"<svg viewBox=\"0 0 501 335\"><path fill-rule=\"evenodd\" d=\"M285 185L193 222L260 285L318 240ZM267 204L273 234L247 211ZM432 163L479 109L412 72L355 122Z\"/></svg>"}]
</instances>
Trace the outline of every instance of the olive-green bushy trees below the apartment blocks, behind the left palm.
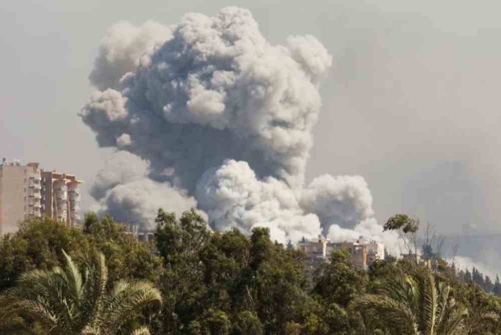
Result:
<instances>
[{"instance_id":1,"label":"olive-green bushy trees below the apartment blocks, behind the left palm","mask_svg":"<svg viewBox=\"0 0 501 335\"><path fill-rule=\"evenodd\" d=\"M80 230L49 217L28 218L17 232L2 236L0 292L14 286L24 272L61 266L65 262L63 249L70 254L92 248L103 252L110 284L120 278L158 280L162 262L151 245L125 234L124 227L110 216L99 220L95 213L87 213L84 223Z\"/></svg>"}]
</instances>

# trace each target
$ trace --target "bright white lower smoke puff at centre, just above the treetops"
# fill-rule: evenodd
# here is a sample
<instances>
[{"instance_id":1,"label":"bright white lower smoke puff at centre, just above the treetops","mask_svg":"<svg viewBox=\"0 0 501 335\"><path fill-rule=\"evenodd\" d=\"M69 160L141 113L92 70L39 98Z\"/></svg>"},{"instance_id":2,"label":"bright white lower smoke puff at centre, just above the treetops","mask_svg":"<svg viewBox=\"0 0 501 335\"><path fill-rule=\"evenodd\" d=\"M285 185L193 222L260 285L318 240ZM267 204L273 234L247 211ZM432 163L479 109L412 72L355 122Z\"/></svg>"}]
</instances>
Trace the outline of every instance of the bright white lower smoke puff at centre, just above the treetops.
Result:
<instances>
[{"instance_id":1,"label":"bright white lower smoke puff at centre, just above the treetops","mask_svg":"<svg viewBox=\"0 0 501 335\"><path fill-rule=\"evenodd\" d=\"M322 232L318 217L303 212L293 189L274 177L258 180L245 161L226 160L207 171L195 194L217 230L237 227L248 232L266 226L279 241L312 238Z\"/></svg>"}]
</instances>

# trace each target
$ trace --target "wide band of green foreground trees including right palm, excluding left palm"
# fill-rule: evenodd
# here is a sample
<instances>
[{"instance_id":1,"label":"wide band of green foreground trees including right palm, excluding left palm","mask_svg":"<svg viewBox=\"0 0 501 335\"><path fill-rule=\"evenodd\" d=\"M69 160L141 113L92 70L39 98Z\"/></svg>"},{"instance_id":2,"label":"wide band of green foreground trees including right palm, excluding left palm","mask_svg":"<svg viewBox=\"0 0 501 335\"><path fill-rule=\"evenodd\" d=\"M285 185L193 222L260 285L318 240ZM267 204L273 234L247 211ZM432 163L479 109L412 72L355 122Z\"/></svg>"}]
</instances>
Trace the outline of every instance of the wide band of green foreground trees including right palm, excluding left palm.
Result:
<instances>
[{"instance_id":1,"label":"wide band of green foreground trees including right palm, excluding left palm","mask_svg":"<svg viewBox=\"0 0 501 335\"><path fill-rule=\"evenodd\" d=\"M156 223L154 242L148 244L124 233L111 217L98 219L93 213L82 229L48 218L26 220L0 241L0 295L20 289L19 279L29 271L64 268L68 257L84 269L79 255L97 250L106 259L106 294L117 280L147 280L163 300L160 310L146 305L124 317L113 330L117 334L140 326L152 334L176 335L442 334L444 329L501 334L501 299L493 294L498 280L489 294L476 269L478 278L471 273L465 278L467 272L439 257L418 264L388 258L361 271L348 253L336 251L309 278L305 255L272 241L266 228L250 236L236 229L213 232L194 210L178 219L160 209ZM48 333L30 317L23 326L27 333ZM24 332L0 330L7 333Z\"/></svg>"}]
</instances>

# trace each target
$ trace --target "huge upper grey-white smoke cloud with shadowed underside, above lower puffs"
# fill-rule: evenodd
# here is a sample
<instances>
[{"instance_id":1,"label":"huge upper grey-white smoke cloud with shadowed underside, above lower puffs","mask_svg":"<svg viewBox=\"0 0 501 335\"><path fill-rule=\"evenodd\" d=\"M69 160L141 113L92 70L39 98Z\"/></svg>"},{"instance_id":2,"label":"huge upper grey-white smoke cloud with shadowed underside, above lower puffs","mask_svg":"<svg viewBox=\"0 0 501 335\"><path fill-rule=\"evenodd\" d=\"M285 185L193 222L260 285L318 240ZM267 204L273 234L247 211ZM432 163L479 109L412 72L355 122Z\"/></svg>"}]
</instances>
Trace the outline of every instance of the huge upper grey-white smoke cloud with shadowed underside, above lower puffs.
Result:
<instances>
[{"instance_id":1,"label":"huge upper grey-white smoke cloud with shadowed underside, above lower puffs","mask_svg":"<svg viewBox=\"0 0 501 335\"><path fill-rule=\"evenodd\" d=\"M97 92L82 108L98 143L116 146L128 134L129 151L154 168L172 166L188 191L226 158L301 185L321 106L318 78L332 62L322 44L295 36L289 48L271 45L250 12L234 7L187 14L172 34L143 54L121 89Z\"/></svg>"}]
</instances>

